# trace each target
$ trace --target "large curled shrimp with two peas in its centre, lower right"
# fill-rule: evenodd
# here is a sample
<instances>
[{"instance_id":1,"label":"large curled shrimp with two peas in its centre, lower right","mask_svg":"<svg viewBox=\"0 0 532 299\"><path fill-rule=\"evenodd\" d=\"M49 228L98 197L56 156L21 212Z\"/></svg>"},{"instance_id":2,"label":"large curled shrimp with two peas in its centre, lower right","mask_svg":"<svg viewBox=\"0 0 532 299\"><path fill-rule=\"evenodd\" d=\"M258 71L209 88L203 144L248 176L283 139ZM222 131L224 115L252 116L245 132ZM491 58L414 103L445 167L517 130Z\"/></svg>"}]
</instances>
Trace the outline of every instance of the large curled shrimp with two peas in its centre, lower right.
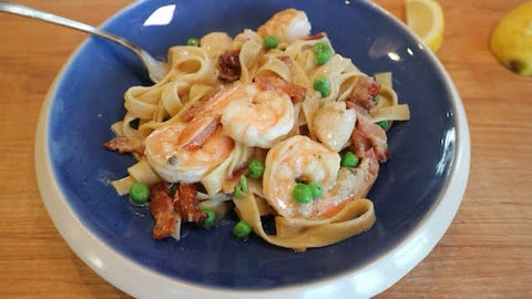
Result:
<instances>
[{"instance_id":1,"label":"large curled shrimp with two peas in its centre, lower right","mask_svg":"<svg viewBox=\"0 0 532 299\"><path fill-rule=\"evenodd\" d=\"M349 200L362 198L377 178L375 156L364 157L356 168L340 168L340 156L306 136L297 135L276 144L266 156L263 192L268 204L288 218L324 219L334 216ZM293 198L298 181L317 182L320 197L308 204Z\"/></svg>"}]
</instances>

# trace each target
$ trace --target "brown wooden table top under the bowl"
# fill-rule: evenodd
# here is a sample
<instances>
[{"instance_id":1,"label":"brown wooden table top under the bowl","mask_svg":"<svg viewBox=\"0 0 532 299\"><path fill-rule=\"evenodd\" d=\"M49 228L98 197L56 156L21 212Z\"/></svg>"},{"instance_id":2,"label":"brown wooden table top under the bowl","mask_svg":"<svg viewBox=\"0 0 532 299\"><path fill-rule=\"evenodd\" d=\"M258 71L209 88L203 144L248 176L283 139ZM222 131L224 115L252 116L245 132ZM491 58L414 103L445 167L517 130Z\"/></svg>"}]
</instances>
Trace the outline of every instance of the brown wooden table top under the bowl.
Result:
<instances>
[{"instance_id":1,"label":"brown wooden table top under the bowl","mask_svg":"<svg viewBox=\"0 0 532 299\"><path fill-rule=\"evenodd\" d=\"M99 24L132 1L19 2ZM403 18L403 1L377 2ZM379 298L530 298L532 78L505 70L488 49L495 22L524 1L440 2L447 28L438 56L469 117L469 185L453 224L433 251ZM33 144L41 103L85 38L0 14L0 298L129 297L70 250L35 183Z\"/></svg>"}]
</instances>

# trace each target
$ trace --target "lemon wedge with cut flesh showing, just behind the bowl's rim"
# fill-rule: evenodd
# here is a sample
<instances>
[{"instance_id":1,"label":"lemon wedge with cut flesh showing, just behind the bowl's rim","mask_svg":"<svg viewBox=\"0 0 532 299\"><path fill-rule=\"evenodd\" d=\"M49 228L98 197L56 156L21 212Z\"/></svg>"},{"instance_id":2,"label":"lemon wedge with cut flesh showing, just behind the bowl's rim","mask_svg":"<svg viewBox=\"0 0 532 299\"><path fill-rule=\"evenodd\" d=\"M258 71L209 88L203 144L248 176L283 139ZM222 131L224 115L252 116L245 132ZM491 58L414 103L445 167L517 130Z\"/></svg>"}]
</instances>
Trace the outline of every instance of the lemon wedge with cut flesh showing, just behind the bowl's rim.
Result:
<instances>
[{"instance_id":1,"label":"lemon wedge with cut flesh showing, just behind the bowl's rim","mask_svg":"<svg viewBox=\"0 0 532 299\"><path fill-rule=\"evenodd\" d=\"M407 25L432 52L443 43L443 10L436 0L407 0Z\"/></svg>"}]
</instances>

